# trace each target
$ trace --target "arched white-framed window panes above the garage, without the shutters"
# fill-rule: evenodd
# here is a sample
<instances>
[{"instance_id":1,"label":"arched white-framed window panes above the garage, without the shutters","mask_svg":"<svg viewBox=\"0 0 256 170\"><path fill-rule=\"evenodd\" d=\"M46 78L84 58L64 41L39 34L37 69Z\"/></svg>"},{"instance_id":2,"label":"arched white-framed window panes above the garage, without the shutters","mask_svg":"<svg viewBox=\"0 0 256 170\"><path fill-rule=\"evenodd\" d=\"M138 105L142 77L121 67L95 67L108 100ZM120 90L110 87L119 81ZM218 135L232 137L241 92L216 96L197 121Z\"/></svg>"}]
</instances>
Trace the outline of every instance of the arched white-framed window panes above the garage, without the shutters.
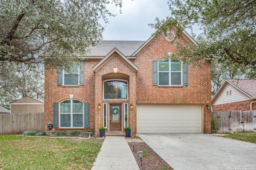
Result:
<instances>
[{"instance_id":1,"label":"arched white-framed window panes above the garage, without the shutters","mask_svg":"<svg viewBox=\"0 0 256 170\"><path fill-rule=\"evenodd\" d=\"M158 85L182 85L182 62L174 58L158 61Z\"/></svg>"}]
</instances>

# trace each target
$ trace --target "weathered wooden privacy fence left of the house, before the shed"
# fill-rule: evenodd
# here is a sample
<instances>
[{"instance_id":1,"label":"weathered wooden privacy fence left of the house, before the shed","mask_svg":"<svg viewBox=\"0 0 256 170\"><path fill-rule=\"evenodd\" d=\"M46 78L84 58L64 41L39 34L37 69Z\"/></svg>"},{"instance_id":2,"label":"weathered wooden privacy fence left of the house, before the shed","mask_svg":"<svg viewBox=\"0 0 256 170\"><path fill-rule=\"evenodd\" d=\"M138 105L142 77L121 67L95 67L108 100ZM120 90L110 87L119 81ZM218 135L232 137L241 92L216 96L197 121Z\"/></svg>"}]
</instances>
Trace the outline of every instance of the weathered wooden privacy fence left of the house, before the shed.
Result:
<instances>
[{"instance_id":1,"label":"weathered wooden privacy fence left of the house, before the shed","mask_svg":"<svg viewBox=\"0 0 256 170\"><path fill-rule=\"evenodd\" d=\"M0 135L44 131L44 112L0 114Z\"/></svg>"}]
</instances>

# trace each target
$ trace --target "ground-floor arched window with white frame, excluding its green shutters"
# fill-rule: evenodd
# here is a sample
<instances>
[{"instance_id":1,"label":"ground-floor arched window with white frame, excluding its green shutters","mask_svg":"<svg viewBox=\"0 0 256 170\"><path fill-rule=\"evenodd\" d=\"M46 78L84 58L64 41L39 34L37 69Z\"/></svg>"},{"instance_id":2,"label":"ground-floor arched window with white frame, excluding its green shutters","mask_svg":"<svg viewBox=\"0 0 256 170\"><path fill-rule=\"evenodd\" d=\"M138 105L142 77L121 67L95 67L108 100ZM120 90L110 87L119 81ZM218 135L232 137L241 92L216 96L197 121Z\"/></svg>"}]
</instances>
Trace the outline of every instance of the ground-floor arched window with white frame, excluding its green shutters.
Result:
<instances>
[{"instance_id":1,"label":"ground-floor arched window with white frame, excluding its green shutters","mask_svg":"<svg viewBox=\"0 0 256 170\"><path fill-rule=\"evenodd\" d=\"M84 104L78 100L60 103L60 127L84 127Z\"/></svg>"}]
</instances>

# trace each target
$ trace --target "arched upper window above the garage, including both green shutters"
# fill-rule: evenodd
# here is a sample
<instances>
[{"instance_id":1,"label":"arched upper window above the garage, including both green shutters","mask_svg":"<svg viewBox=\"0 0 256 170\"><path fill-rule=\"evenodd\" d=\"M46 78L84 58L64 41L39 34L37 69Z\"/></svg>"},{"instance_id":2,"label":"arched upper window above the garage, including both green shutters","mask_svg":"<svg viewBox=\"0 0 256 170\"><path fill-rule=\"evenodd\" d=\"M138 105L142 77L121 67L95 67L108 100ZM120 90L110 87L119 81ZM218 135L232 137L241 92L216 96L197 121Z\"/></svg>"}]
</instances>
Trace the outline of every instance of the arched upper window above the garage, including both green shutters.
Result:
<instances>
[{"instance_id":1,"label":"arched upper window above the garage, including both green shutters","mask_svg":"<svg viewBox=\"0 0 256 170\"><path fill-rule=\"evenodd\" d=\"M174 58L153 61L153 85L188 86L188 64Z\"/></svg>"}]
</instances>

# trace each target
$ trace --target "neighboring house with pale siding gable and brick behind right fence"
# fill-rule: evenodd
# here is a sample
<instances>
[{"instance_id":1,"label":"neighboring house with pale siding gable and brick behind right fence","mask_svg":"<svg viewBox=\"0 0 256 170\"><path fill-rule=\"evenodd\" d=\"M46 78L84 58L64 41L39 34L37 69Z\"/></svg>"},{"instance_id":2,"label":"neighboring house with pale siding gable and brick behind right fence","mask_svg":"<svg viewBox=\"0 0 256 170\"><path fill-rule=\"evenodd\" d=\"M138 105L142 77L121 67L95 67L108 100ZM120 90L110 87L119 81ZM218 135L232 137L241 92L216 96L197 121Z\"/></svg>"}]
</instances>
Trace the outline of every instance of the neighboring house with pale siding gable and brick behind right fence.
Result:
<instances>
[{"instance_id":1,"label":"neighboring house with pale siding gable and brick behind right fence","mask_svg":"<svg viewBox=\"0 0 256 170\"><path fill-rule=\"evenodd\" d=\"M216 94L212 97L212 110L256 110L256 80L224 80Z\"/></svg>"}]
</instances>

